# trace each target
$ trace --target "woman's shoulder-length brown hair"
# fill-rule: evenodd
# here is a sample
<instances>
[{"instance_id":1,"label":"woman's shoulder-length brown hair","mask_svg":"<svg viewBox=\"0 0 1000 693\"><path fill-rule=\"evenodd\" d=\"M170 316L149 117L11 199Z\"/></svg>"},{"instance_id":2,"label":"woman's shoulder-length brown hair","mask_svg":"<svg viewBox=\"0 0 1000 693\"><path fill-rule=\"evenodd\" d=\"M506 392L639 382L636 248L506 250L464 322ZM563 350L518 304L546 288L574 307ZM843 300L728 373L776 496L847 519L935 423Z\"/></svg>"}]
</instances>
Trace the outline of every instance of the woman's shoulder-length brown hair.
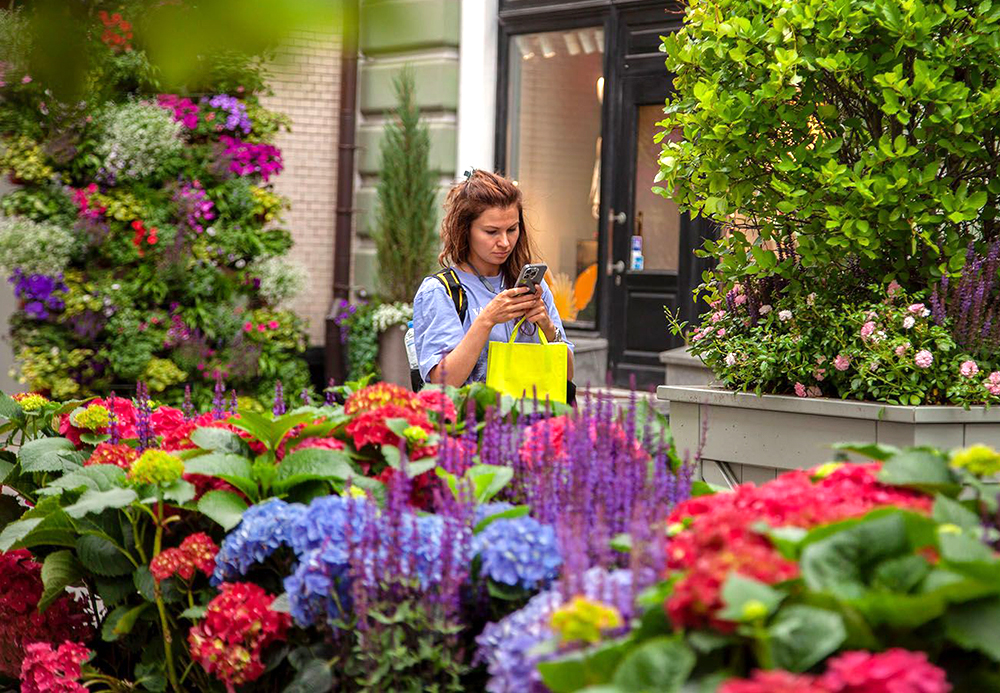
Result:
<instances>
[{"instance_id":1,"label":"woman's shoulder-length brown hair","mask_svg":"<svg viewBox=\"0 0 1000 693\"><path fill-rule=\"evenodd\" d=\"M517 207L517 243L500 267L504 285L510 287L517 281L521 268L533 256L528 228L524 224L521 190L513 181L489 171L473 169L465 180L456 183L445 200L444 220L441 222L442 249L438 262L442 267L468 262L469 234L472 222L487 209Z\"/></svg>"}]
</instances>

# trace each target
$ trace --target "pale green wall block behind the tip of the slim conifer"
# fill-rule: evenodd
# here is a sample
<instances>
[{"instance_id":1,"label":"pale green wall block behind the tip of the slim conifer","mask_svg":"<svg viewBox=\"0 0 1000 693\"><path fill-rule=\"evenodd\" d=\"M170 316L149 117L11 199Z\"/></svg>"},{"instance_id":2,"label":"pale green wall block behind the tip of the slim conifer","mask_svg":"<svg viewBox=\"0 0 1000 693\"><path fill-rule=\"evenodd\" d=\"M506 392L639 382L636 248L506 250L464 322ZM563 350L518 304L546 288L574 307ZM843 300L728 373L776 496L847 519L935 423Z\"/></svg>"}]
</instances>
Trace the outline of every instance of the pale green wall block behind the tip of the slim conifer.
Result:
<instances>
[{"instance_id":1,"label":"pale green wall block behind the tip of the slim conifer","mask_svg":"<svg viewBox=\"0 0 1000 693\"><path fill-rule=\"evenodd\" d=\"M403 66L365 65L359 80L362 113L384 113L396 107L393 84ZM425 111L458 110L458 61L442 59L412 65L417 105Z\"/></svg>"}]
</instances>

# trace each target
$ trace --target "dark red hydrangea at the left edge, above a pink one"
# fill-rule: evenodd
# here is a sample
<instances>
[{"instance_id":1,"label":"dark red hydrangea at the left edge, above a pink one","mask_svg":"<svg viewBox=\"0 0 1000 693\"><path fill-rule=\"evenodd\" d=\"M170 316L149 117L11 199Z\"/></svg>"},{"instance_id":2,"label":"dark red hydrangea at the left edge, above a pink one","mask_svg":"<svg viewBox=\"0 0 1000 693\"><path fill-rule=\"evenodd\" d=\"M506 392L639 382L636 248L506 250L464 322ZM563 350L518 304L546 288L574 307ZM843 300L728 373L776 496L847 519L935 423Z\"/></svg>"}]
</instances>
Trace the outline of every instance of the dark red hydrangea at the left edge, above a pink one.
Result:
<instances>
[{"instance_id":1,"label":"dark red hydrangea at the left edge, above a pink one","mask_svg":"<svg viewBox=\"0 0 1000 693\"><path fill-rule=\"evenodd\" d=\"M18 675L30 643L87 641L90 619L69 594L38 613L42 565L26 549L0 553L0 675Z\"/></svg>"}]
</instances>

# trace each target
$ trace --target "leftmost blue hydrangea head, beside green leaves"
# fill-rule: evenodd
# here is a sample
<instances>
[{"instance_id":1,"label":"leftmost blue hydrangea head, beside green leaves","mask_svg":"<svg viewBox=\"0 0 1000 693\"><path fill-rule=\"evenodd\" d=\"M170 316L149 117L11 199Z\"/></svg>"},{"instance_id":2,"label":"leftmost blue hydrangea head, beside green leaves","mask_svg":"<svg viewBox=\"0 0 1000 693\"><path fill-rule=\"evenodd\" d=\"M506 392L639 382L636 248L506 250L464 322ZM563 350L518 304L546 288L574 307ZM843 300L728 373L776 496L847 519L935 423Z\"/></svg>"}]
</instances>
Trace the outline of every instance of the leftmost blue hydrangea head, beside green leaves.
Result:
<instances>
[{"instance_id":1,"label":"leftmost blue hydrangea head, beside green leaves","mask_svg":"<svg viewBox=\"0 0 1000 693\"><path fill-rule=\"evenodd\" d=\"M219 547L212 584L246 575L251 566L290 545L290 530L305 510L304 505L277 498L248 508Z\"/></svg>"}]
</instances>

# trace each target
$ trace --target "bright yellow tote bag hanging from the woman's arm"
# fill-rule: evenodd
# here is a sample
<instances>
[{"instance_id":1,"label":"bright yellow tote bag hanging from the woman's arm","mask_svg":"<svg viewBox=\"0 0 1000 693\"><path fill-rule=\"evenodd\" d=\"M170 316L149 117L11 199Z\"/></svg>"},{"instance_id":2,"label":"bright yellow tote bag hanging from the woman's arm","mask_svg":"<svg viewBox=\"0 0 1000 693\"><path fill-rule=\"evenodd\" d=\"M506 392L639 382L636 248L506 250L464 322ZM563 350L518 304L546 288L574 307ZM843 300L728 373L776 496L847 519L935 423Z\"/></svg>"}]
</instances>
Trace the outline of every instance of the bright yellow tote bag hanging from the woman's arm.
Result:
<instances>
[{"instance_id":1,"label":"bright yellow tote bag hanging from the woman's arm","mask_svg":"<svg viewBox=\"0 0 1000 693\"><path fill-rule=\"evenodd\" d=\"M566 374L569 347L565 342L549 344L538 328L541 344L515 342L518 321L509 342L490 342L486 352L486 384L512 397L546 397L553 402L566 402Z\"/></svg>"}]
</instances>

